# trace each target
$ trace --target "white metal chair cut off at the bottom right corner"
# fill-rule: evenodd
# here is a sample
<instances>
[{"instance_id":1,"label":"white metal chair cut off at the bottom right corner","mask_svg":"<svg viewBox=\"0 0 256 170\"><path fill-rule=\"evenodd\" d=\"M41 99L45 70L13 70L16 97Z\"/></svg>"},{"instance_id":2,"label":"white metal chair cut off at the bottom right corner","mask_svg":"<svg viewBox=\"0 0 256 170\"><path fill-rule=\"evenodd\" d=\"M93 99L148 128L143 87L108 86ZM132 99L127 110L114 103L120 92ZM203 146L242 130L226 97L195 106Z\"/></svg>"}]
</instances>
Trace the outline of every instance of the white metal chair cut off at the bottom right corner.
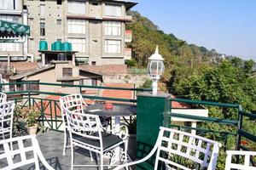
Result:
<instances>
[{"instance_id":1,"label":"white metal chair cut off at the bottom right corner","mask_svg":"<svg viewBox=\"0 0 256 170\"><path fill-rule=\"evenodd\" d=\"M232 157L239 156L239 160L243 163L233 163ZM254 157L256 160L255 151L244 151L244 150L227 150L225 170L240 169L240 170L256 170L256 167L250 163L250 159Z\"/></svg>"}]
</instances>

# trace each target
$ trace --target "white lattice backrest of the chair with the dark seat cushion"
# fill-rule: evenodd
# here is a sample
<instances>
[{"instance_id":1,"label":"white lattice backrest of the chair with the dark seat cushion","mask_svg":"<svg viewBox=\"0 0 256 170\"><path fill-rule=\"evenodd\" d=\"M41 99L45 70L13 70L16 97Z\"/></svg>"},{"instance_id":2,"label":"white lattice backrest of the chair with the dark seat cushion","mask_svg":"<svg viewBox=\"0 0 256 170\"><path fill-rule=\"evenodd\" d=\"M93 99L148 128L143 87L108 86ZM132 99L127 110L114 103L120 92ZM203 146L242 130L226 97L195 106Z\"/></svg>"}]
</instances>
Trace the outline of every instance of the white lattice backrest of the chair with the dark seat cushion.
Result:
<instances>
[{"instance_id":1,"label":"white lattice backrest of the chair with the dark seat cushion","mask_svg":"<svg viewBox=\"0 0 256 170\"><path fill-rule=\"evenodd\" d=\"M67 127L71 133L71 140L73 134L77 134L80 137L98 140L102 148L102 127L99 116L67 111ZM101 148L97 149L101 150Z\"/></svg>"}]
</instances>

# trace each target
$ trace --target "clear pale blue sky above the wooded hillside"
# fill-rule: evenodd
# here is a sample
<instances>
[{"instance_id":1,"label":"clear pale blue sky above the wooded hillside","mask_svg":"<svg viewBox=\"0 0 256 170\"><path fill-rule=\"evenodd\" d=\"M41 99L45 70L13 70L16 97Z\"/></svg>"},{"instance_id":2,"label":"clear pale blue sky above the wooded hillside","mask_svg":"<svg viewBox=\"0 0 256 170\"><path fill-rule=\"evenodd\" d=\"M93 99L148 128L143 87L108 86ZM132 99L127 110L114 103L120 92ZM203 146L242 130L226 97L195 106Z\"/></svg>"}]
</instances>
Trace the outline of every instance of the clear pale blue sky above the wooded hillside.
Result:
<instances>
[{"instance_id":1,"label":"clear pale blue sky above the wooded hillside","mask_svg":"<svg viewBox=\"0 0 256 170\"><path fill-rule=\"evenodd\" d=\"M256 59L256 0L138 0L160 30L219 53Z\"/></svg>"}]
</instances>

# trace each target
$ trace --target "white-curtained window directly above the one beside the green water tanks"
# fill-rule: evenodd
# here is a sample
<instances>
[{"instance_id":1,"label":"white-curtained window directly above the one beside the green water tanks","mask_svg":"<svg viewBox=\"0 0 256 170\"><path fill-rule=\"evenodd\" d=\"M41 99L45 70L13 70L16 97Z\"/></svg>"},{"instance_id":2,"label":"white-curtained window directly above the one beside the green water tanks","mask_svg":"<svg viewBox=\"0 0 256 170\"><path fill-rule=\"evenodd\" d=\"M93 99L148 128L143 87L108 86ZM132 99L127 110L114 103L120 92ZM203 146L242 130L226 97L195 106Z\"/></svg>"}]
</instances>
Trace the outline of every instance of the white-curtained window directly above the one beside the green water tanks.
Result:
<instances>
[{"instance_id":1,"label":"white-curtained window directly above the one beside the green water tanks","mask_svg":"<svg viewBox=\"0 0 256 170\"><path fill-rule=\"evenodd\" d=\"M67 32L72 34L85 34L86 20L67 20Z\"/></svg>"}]
</instances>

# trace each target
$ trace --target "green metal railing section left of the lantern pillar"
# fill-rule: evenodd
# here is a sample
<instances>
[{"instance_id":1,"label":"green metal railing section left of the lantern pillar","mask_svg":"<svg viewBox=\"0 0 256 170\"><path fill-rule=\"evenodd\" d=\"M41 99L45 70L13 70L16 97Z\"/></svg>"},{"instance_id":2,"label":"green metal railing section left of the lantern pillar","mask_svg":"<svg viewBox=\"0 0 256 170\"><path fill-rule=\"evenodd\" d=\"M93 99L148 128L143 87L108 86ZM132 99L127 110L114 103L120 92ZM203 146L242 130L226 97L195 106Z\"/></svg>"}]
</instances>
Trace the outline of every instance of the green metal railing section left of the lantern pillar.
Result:
<instances>
[{"instance_id":1,"label":"green metal railing section left of the lantern pillar","mask_svg":"<svg viewBox=\"0 0 256 170\"><path fill-rule=\"evenodd\" d=\"M16 105L20 105L21 108L34 108L40 111L41 116L39 121L42 122L43 126L49 127L51 130L61 131L60 127L62 125L61 120L61 108L59 100L56 99L45 99L40 96L42 95L53 95L53 96L65 96L67 94L55 93L55 92L44 92L38 89L32 89L32 85L38 85L39 88L43 86L47 87L67 87L67 88L78 88L79 92L82 94L84 88L95 88L95 89L111 89L111 90L124 90L124 91L133 91L134 94L137 92L147 92L151 89L143 88L112 88L112 87L102 87L102 86L83 86L83 85L70 85L70 84L58 84L58 83L47 83L47 82L10 82L10 83L0 83L0 89L4 89L6 86L23 86L26 87L26 90L12 90L4 92L9 95L10 99L15 100ZM13 89L15 89L13 87ZM17 97L18 96L18 97ZM135 95L133 95L135 97ZM137 99L121 99L121 98L111 98L111 97L102 97L102 96L91 96L83 95L84 99L93 99L93 100L112 100L116 102L127 102L127 103L137 103Z\"/></svg>"}]
</instances>

